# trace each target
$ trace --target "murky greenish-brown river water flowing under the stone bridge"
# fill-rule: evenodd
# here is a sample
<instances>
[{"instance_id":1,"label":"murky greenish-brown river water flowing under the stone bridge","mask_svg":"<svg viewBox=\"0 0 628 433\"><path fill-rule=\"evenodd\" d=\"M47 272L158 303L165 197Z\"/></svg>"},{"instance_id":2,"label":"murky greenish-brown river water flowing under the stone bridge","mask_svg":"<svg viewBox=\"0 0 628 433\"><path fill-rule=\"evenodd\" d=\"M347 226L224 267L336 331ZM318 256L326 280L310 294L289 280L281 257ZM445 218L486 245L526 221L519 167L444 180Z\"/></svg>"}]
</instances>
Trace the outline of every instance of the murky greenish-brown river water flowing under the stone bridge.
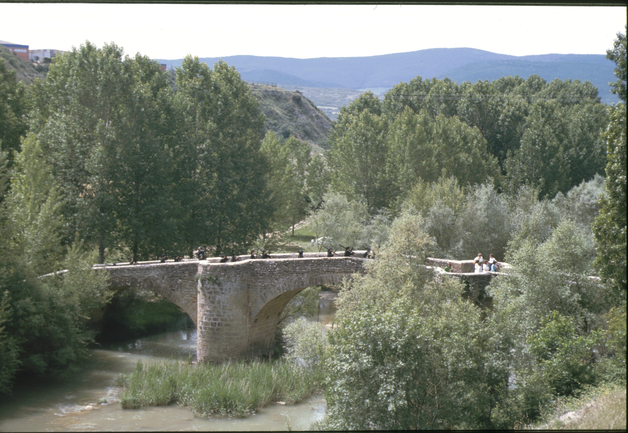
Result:
<instances>
[{"instance_id":1,"label":"murky greenish-brown river water flowing under the stone bridge","mask_svg":"<svg viewBox=\"0 0 628 433\"><path fill-rule=\"evenodd\" d=\"M333 320L335 293L322 292L319 322ZM169 406L122 409L115 380L137 361L154 363L196 359L195 329L165 332L90 351L82 371L63 378L21 378L13 394L0 397L0 431L172 431L306 430L325 415L323 395L295 405L273 404L244 419L195 417L192 410ZM100 399L107 403L99 404Z\"/></svg>"}]
</instances>

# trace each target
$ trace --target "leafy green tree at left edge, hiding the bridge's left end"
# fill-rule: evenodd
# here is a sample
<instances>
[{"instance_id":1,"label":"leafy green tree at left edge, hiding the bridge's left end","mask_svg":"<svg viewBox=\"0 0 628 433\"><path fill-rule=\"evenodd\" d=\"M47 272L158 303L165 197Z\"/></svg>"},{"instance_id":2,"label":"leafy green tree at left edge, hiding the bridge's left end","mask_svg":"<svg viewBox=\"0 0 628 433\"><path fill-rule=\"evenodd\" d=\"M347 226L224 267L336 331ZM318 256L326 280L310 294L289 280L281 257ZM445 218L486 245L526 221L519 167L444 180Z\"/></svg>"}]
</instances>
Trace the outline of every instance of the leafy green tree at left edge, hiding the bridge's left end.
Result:
<instances>
[{"instance_id":1,"label":"leafy green tree at left edge, hiding the bridge's left end","mask_svg":"<svg viewBox=\"0 0 628 433\"><path fill-rule=\"evenodd\" d=\"M11 389L16 373L80 364L93 337L87 320L111 296L106 274L94 273L95 257L81 242L69 251L63 245L60 188L45 160L41 143L28 135L0 205L1 391ZM50 273L64 267L65 276Z\"/></svg>"}]
</instances>

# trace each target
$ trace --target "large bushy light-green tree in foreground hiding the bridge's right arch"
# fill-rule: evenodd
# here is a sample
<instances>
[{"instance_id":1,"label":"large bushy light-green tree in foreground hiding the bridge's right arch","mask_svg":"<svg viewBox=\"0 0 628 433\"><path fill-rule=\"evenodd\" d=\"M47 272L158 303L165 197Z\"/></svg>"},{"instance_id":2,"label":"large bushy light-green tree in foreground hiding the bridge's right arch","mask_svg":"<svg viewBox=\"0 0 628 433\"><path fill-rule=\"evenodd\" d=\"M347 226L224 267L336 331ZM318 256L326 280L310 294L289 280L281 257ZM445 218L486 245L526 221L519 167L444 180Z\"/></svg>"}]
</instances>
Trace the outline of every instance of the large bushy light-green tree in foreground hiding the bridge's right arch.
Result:
<instances>
[{"instance_id":1,"label":"large bushy light-green tree in foreground hiding the bridge's right arch","mask_svg":"<svg viewBox=\"0 0 628 433\"><path fill-rule=\"evenodd\" d=\"M423 266L420 217L402 213L366 276L341 291L326 364L327 429L490 427L504 380L480 310Z\"/></svg>"}]
</instances>

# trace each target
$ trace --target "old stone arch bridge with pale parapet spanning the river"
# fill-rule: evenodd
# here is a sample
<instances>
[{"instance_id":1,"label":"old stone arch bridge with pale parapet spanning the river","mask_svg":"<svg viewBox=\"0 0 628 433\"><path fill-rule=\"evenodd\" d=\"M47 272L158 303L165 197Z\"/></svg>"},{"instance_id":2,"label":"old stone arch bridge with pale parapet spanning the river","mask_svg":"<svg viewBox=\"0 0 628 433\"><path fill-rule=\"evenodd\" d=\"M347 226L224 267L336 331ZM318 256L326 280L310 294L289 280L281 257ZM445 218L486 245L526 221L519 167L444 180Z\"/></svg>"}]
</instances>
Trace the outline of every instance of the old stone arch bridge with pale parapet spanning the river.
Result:
<instances>
[{"instance_id":1,"label":"old stone arch bridge with pale parapet spanning the river","mask_svg":"<svg viewBox=\"0 0 628 433\"><path fill-rule=\"evenodd\" d=\"M137 265L96 265L109 271L112 290L141 288L158 293L178 305L197 325L198 361L225 361L273 351L279 315L301 290L340 283L354 273L364 273L357 257L327 257L322 253L273 254L272 259L249 259L220 263L220 257L203 261L188 259ZM428 259L444 267L444 261ZM452 271L463 277L470 261L454 262ZM462 273L461 273L462 272ZM488 279L487 279L488 278ZM486 280L486 281L484 281ZM482 276L482 286L490 276Z\"/></svg>"}]
</instances>

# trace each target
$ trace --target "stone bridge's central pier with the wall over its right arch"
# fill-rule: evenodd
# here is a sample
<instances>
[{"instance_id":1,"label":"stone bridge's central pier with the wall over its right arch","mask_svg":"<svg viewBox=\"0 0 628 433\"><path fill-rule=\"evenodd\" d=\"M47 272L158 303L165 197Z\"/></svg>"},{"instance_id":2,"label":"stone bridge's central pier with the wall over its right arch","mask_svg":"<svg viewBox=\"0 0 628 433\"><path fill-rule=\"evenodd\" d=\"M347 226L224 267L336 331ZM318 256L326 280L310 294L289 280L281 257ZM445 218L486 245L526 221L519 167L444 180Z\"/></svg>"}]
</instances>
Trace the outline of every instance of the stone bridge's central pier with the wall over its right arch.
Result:
<instances>
[{"instance_id":1,"label":"stone bridge's central pier with the wall over its right arch","mask_svg":"<svg viewBox=\"0 0 628 433\"><path fill-rule=\"evenodd\" d=\"M305 288L340 283L362 272L364 260L305 257L200 264L198 361L263 356L273 351L279 317L288 302Z\"/></svg>"}]
</instances>

